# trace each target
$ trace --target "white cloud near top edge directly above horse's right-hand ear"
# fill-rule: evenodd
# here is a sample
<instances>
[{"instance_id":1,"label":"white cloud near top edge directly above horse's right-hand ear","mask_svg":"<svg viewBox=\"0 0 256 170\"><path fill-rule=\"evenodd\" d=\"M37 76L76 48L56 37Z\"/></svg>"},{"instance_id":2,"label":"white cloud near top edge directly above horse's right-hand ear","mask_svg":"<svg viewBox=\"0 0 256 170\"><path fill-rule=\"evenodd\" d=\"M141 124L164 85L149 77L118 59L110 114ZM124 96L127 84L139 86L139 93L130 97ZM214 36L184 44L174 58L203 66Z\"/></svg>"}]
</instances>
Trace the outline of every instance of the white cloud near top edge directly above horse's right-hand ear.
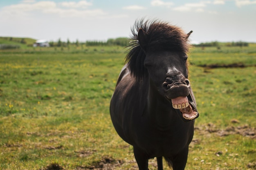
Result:
<instances>
[{"instance_id":1,"label":"white cloud near top edge directly above horse's right-hand ear","mask_svg":"<svg viewBox=\"0 0 256 170\"><path fill-rule=\"evenodd\" d=\"M175 7L173 10L175 11L195 11L195 12L203 12L204 7L207 6L207 4L210 4L210 1L202 1L198 3L186 3L180 7Z\"/></svg>"}]
</instances>

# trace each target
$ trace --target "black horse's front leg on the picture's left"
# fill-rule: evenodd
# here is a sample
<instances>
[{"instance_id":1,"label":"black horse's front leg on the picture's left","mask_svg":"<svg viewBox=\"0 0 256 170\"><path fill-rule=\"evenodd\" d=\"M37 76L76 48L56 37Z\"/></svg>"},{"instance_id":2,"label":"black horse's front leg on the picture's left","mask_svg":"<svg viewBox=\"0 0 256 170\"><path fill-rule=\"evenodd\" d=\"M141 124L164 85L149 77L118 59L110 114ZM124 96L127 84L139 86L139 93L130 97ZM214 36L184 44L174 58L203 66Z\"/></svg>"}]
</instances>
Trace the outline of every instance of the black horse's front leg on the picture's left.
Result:
<instances>
[{"instance_id":1,"label":"black horse's front leg on the picture's left","mask_svg":"<svg viewBox=\"0 0 256 170\"><path fill-rule=\"evenodd\" d=\"M139 170L148 170L148 156L146 153L136 146L133 146L133 153L139 166Z\"/></svg>"}]
</instances>

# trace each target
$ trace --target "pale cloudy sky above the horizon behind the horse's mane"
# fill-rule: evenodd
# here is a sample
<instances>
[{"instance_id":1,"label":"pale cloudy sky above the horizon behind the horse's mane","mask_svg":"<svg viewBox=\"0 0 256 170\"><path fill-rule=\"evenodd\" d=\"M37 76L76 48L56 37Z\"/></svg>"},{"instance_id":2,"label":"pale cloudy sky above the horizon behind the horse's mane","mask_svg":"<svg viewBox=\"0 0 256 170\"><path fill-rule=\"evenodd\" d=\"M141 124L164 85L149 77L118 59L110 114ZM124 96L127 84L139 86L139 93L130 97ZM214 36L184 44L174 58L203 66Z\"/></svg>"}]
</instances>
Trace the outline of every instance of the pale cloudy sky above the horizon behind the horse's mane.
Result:
<instances>
[{"instance_id":1,"label":"pale cloudy sky above the horizon behind the horse's mane","mask_svg":"<svg viewBox=\"0 0 256 170\"><path fill-rule=\"evenodd\" d=\"M107 40L143 17L193 30L192 42L256 42L256 0L0 0L0 36Z\"/></svg>"}]
</instances>

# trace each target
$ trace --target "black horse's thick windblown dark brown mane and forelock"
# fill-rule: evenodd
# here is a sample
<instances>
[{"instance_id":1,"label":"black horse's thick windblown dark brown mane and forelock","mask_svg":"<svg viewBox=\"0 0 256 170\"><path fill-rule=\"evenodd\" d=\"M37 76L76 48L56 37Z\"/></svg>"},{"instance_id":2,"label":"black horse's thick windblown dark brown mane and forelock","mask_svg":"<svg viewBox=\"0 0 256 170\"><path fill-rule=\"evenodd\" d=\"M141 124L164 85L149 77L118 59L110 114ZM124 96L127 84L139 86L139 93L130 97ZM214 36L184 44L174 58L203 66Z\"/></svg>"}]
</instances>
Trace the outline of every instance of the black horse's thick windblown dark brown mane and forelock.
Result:
<instances>
[{"instance_id":1,"label":"black horse's thick windblown dark brown mane and forelock","mask_svg":"<svg viewBox=\"0 0 256 170\"><path fill-rule=\"evenodd\" d=\"M146 68L144 67L145 53L139 45L138 32L143 29L147 35L146 49L157 49L177 51L187 53L189 51L188 35L178 27L161 22L159 20L136 20L131 29L130 37L131 44L129 52L126 56L126 62L132 75L138 80L147 76Z\"/></svg>"}]
</instances>

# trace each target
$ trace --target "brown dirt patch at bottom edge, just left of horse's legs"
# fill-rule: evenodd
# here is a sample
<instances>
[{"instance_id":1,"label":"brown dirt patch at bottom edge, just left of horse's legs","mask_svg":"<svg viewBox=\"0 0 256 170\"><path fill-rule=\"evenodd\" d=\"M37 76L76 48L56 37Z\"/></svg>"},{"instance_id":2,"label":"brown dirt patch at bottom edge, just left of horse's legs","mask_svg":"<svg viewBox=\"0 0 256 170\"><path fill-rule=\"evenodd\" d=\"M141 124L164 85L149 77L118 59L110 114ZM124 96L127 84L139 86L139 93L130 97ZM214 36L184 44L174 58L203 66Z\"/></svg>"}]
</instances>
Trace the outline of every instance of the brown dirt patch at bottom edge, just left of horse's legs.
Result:
<instances>
[{"instance_id":1,"label":"brown dirt patch at bottom edge, just left of horse's legs","mask_svg":"<svg viewBox=\"0 0 256 170\"><path fill-rule=\"evenodd\" d=\"M95 161L90 166L78 166L76 170L115 170L123 163L121 160L115 160L106 155L100 161Z\"/></svg>"}]
</instances>

